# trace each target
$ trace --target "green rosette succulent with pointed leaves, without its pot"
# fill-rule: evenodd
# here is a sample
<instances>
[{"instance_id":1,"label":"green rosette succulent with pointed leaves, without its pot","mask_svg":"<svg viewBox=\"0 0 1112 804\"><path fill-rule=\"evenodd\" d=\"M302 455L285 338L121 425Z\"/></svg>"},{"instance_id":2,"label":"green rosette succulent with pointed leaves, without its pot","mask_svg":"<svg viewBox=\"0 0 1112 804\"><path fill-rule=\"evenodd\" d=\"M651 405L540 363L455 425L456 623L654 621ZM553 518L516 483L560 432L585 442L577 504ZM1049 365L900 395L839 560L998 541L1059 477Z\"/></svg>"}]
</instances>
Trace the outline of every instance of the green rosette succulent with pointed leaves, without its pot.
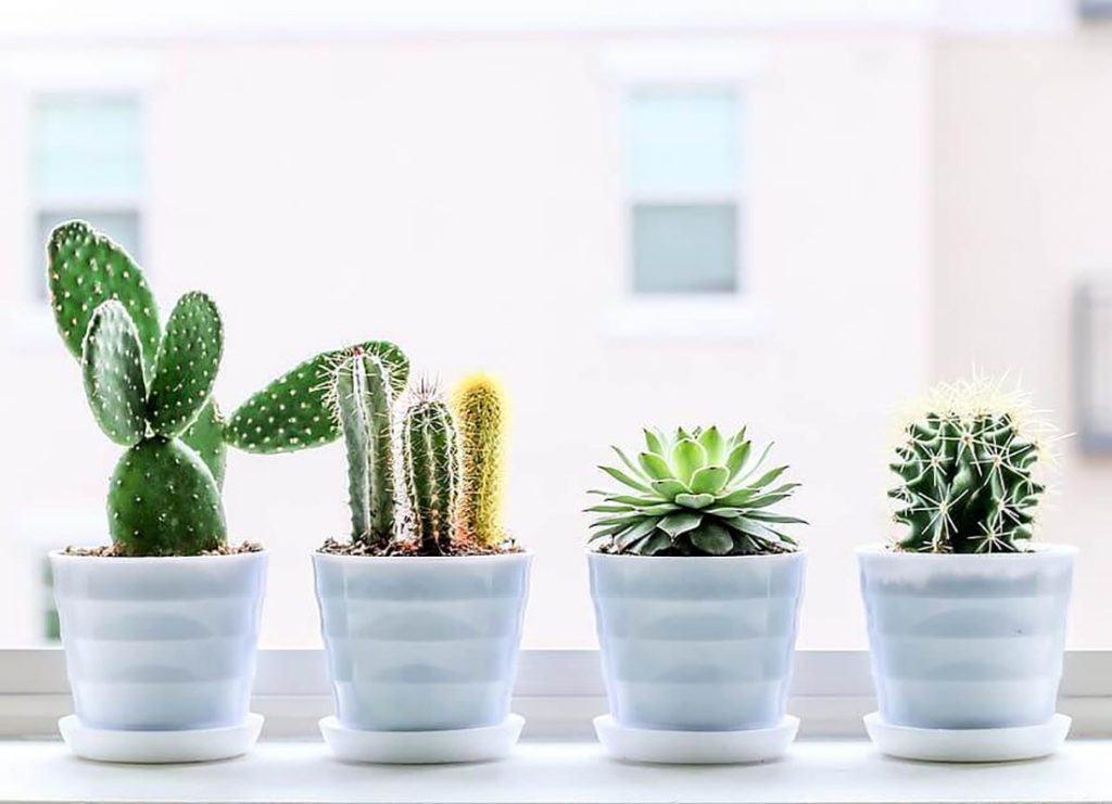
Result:
<instances>
[{"instance_id":1,"label":"green rosette succulent with pointed leaves, without its pot","mask_svg":"<svg viewBox=\"0 0 1112 804\"><path fill-rule=\"evenodd\" d=\"M770 511L798 483L776 484L787 466L762 472L772 449L753 460L743 428L725 438L717 428L645 430L646 450L632 461L613 448L624 469L599 466L623 486L592 491L602 503L587 511L589 544L599 552L635 555L759 555L795 550L782 525L806 524Z\"/></svg>"}]
</instances>

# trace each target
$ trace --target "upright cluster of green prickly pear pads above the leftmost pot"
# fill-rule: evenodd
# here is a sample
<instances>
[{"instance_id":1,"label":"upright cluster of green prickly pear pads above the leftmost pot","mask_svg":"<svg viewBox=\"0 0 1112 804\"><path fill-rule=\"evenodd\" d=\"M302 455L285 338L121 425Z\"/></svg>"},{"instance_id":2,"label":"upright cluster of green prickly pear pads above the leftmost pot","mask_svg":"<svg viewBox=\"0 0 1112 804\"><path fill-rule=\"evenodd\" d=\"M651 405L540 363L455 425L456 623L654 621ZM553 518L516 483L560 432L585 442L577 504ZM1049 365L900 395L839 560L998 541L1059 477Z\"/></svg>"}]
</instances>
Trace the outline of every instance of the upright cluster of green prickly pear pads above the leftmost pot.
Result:
<instances>
[{"instance_id":1,"label":"upright cluster of green prickly pear pads above the leftmost pot","mask_svg":"<svg viewBox=\"0 0 1112 804\"><path fill-rule=\"evenodd\" d=\"M101 430L127 446L112 474L108 522L127 555L190 555L226 540L214 444L212 384L224 326L212 300L187 293L165 333L142 272L108 238L80 221L58 227L47 247L51 308L81 362ZM195 440L206 445L198 454Z\"/></svg>"}]
</instances>

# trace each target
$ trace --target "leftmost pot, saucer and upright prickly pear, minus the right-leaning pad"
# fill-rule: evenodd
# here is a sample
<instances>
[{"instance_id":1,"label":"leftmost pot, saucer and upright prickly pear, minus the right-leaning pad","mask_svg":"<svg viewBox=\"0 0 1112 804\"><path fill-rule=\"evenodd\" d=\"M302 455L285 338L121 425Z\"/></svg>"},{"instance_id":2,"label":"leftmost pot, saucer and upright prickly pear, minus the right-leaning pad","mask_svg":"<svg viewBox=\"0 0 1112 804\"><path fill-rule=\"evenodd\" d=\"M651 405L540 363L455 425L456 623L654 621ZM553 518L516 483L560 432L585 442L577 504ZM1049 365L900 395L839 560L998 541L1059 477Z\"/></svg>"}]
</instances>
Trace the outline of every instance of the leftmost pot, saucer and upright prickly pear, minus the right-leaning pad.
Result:
<instances>
[{"instance_id":1,"label":"leftmost pot, saucer and upright prickly pear, minus the right-leaning pad","mask_svg":"<svg viewBox=\"0 0 1112 804\"><path fill-rule=\"evenodd\" d=\"M90 758L242 753L261 726L248 704L266 554L227 541L211 399L219 312L187 293L163 330L139 267L79 221L53 231L48 261L93 418L125 448L108 491L111 544L50 555L77 711L62 735Z\"/></svg>"}]
</instances>

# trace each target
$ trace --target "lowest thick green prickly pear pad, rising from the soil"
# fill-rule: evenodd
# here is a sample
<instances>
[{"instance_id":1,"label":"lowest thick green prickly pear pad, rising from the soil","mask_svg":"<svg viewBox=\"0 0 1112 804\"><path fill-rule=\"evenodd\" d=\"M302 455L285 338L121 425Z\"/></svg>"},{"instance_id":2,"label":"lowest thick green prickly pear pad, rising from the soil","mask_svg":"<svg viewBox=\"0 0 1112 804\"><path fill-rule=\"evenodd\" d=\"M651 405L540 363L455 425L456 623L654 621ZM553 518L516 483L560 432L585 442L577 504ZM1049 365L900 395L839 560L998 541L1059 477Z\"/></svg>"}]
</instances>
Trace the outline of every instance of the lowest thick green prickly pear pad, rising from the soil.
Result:
<instances>
[{"instance_id":1,"label":"lowest thick green prickly pear pad, rising from the soil","mask_svg":"<svg viewBox=\"0 0 1112 804\"><path fill-rule=\"evenodd\" d=\"M197 555L227 537L212 473L180 440L161 435L139 442L116 465L108 526L128 555Z\"/></svg>"}]
</instances>

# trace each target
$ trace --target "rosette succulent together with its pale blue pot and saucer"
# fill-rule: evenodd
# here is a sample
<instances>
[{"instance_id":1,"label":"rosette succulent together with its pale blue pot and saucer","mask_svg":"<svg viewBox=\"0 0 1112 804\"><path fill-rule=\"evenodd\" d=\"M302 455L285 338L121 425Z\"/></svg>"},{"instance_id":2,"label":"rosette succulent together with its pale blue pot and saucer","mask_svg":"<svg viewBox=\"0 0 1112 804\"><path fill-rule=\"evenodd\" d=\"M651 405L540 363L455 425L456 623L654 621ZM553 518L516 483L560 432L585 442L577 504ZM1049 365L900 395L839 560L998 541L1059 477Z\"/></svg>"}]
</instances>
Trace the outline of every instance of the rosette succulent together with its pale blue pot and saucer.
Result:
<instances>
[{"instance_id":1,"label":"rosette succulent together with its pale blue pot and saucer","mask_svg":"<svg viewBox=\"0 0 1112 804\"><path fill-rule=\"evenodd\" d=\"M588 562L612 754L744 762L783 753L804 553L773 511L797 483L764 469L743 429L645 431L636 461L600 466Z\"/></svg>"}]
</instances>

